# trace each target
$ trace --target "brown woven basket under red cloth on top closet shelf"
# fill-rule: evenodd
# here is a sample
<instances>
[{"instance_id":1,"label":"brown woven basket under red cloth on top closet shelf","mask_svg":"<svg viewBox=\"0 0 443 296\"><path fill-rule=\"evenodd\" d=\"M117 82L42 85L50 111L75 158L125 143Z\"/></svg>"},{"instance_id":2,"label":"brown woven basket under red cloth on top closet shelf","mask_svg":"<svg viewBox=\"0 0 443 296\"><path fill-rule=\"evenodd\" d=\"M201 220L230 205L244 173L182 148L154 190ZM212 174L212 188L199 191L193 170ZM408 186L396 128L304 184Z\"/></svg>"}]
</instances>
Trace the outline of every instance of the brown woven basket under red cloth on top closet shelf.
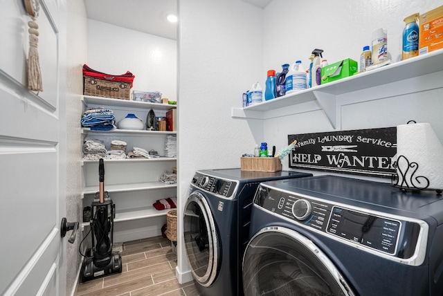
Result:
<instances>
[{"instance_id":1,"label":"brown woven basket under red cloth on top closet shelf","mask_svg":"<svg viewBox=\"0 0 443 296\"><path fill-rule=\"evenodd\" d=\"M89 76L83 77L84 95L129 100L131 95L131 84L129 82L108 81Z\"/></svg>"}]
</instances>

